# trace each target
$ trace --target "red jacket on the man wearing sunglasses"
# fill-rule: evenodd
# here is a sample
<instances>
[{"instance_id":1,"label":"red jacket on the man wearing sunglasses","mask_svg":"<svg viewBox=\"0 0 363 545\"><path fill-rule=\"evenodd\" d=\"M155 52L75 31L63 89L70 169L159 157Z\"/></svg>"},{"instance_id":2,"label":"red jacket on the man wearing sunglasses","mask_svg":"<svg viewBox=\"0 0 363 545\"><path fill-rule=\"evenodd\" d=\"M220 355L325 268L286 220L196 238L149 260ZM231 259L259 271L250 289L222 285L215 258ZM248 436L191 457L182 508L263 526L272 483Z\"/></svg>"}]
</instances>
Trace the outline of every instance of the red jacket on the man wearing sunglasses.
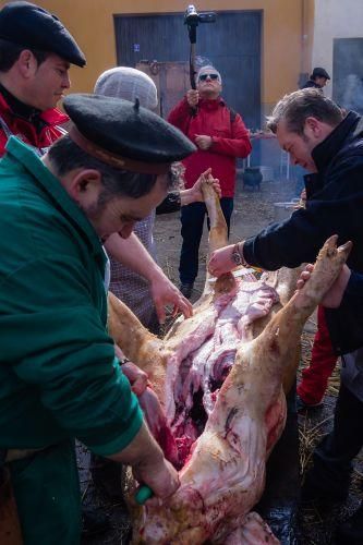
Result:
<instances>
[{"instance_id":1,"label":"red jacket on the man wearing sunglasses","mask_svg":"<svg viewBox=\"0 0 363 545\"><path fill-rule=\"evenodd\" d=\"M231 113L221 97L216 100L201 99L197 113L192 111L184 97L170 112L168 121L180 129L192 142L196 135L211 136L209 149L198 149L183 160L185 187L191 187L199 174L211 168L219 179L222 196L233 197L235 186L235 159L251 154L249 132L239 113L231 120Z\"/></svg>"}]
</instances>

